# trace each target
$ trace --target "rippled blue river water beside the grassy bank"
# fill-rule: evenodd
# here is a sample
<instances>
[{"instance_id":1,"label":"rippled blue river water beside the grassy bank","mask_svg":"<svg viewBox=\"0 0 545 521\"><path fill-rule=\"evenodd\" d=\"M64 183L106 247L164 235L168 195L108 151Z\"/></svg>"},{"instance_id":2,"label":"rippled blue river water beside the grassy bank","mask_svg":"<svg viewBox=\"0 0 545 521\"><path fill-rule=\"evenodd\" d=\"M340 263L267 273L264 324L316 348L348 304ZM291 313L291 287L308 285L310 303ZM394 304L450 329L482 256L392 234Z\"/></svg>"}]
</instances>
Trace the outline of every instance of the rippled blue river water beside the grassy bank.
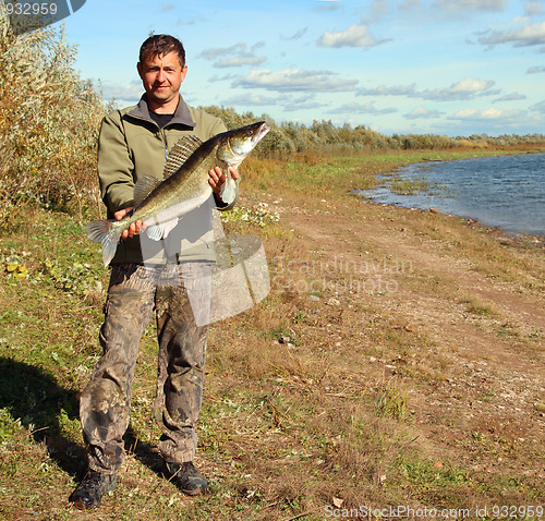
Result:
<instances>
[{"instance_id":1,"label":"rippled blue river water beside the grassy bank","mask_svg":"<svg viewBox=\"0 0 545 521\"><path fill-rule=\"evenodd\" d=\"M399 195L380 187L360 192L377 203L437 208L513 234L545 237L545 154L431 161L397 170L401 180L422 181L426 192Z\"/></svg>"}]
</instances>

